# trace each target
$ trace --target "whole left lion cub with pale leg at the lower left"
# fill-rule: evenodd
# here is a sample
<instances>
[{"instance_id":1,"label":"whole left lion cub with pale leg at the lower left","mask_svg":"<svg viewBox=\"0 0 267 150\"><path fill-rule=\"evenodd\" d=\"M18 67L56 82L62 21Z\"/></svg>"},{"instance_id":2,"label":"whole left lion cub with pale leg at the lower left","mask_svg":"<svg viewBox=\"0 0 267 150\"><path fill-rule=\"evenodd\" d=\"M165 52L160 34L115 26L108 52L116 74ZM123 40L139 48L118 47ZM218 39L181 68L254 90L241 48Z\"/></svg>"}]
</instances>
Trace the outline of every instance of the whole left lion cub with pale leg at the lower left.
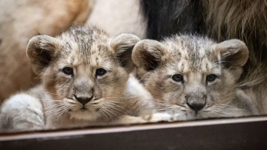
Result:
<instances>
[{"instance_id":1,"label":"whole left lion cub with pale leg at the lower left","mask_svg":"<svg viewBox=\"0 0 267 150\"><path fill-rule=\"evenodd\" d=\"M149 93L129 75L138 41L131 34L110 38L96 27L70 28L55 38L34 36L26 52L41 85L6 100L2 130L116 123L152 110Z\"/></svg>"}]
</instances>

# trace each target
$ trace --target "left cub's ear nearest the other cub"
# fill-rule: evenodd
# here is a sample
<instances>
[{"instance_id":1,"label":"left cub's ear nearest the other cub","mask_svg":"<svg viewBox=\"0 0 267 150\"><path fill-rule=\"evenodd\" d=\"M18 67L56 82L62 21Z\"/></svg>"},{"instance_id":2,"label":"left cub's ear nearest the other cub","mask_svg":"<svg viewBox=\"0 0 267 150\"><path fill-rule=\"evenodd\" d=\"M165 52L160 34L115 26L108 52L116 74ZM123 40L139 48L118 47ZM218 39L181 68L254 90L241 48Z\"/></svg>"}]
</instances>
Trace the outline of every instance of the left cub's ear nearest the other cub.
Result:
<instances>
[{"instance_id":1,"label":"left cub's ear nearest the other cub","mask_svg":"<svg viewBox=\"0 0 267 150\"><path fill-rule=\"evenodd\" d=\"M116 52L116 57L128 73L132 72L135 66L132 63L132 49L140 39L132 34L121 34L110 42L111 48Z\"/></svg>"}]
</instances>

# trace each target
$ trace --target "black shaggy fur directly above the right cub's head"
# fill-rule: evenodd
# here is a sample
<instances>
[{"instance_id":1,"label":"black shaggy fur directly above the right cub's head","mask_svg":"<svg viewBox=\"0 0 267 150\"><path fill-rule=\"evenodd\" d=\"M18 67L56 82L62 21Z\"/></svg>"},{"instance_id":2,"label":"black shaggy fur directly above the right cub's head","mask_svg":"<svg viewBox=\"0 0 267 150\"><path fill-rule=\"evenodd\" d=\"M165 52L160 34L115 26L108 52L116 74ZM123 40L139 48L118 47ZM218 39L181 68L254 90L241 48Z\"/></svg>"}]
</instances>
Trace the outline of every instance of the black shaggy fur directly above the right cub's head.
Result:
<instances>
[{"instance_id":1,"label":"black shaggy fur directly above the right cub's head","mask_svg":"<svg viewBox=\"0 0 267 150\"><path fill-rule=\"evenodd\" d=\"M141 0L148 17L147 38L162 40L170 34L205 33L199 0Z\"/></svg>"}]
</instances>

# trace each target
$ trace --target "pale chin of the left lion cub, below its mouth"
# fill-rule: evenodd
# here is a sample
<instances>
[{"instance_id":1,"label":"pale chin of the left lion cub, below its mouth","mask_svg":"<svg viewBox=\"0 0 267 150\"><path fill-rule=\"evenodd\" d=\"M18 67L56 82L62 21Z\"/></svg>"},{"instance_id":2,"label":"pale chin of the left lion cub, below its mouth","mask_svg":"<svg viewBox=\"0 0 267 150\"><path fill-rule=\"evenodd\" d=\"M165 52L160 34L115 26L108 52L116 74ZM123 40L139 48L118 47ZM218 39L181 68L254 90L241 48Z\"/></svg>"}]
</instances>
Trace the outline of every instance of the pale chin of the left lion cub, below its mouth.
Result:
<instances>
[{"instance_id":1,"label":"pale chin of the left lion cub, below its mouth","mask_svg":"<svg viewBox=\"0 0 267 150\"><path fill-rule=\"evenodd\" d=\"M70 119L79 119L84 121L95 121L101 117L101 114L96 110L79 109L70 111Z\"/></svg>"}]
</instances>

